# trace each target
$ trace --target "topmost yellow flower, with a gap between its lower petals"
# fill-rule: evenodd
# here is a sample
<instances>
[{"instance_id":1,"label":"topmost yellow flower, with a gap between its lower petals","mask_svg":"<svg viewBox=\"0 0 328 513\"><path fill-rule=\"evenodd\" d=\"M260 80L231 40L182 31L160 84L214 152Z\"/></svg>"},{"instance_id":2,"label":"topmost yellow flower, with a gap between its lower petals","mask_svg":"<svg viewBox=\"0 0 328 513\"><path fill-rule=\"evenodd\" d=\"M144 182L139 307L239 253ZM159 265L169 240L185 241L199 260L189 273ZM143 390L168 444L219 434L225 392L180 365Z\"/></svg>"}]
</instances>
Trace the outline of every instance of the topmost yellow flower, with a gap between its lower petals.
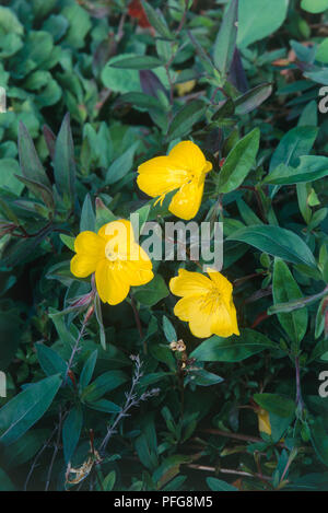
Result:
<instances>
[{"instance_id":1,"label":"topmost yellow flower, with a gap between its lower petals","mask_svg":"<svg viewBox=\"0 0 328 513\"><path fill-rule=\"evenodd\" d=\"M160 197L163 202L165 195L179 189L169 203L168 210L185 220L197 214L203 191L206 174L211 171L208 162L191 141L176 144L166 156L155 156L138 168L138 186L152 198Z\"/></svg>"}]
</instances>

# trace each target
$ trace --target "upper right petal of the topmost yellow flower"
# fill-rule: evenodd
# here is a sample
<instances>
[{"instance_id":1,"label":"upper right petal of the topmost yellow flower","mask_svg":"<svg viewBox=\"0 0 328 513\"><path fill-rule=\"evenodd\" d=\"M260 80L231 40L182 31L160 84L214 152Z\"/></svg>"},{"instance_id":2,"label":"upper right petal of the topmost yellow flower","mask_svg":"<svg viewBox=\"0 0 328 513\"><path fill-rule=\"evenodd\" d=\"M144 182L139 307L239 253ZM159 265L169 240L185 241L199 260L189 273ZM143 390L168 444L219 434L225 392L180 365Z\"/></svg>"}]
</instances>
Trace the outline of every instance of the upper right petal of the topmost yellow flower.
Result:
<instances>
[{"instance_id":1,"label":"upper right petal of the topmost yellow flower","mask_svg":"<svg viewBox=\"0 0 328 513\"><path fill-rule=\"evenodd\" d=\"M168 156L176 168L188 170L191 173L202 173L204 168L208 171L212 168L212 164L206 160L200 148L191 141L179 142L171 150Z\"/></svg>"}]
</instances>

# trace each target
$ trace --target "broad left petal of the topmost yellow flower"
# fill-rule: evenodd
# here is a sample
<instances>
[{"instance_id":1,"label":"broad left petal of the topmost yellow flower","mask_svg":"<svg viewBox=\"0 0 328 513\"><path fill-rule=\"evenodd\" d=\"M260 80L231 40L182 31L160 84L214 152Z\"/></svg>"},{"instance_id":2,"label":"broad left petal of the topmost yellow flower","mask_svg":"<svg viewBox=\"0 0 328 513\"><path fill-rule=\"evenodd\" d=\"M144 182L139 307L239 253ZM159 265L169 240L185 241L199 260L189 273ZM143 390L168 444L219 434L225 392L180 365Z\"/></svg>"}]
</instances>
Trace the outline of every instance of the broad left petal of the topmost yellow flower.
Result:
<instances>
[{"instance_id":1,"label":"broad left petal of the topmost yellow flower","mask_svg":"<svg viewBox=\"0 0 328 513\"><path fill-rule=\"evenodd\" d=\"M152 198L171 193L188 180L188 172L168 156L155 156L138 167L138 187Z\"/></svg>"}]
</instances>

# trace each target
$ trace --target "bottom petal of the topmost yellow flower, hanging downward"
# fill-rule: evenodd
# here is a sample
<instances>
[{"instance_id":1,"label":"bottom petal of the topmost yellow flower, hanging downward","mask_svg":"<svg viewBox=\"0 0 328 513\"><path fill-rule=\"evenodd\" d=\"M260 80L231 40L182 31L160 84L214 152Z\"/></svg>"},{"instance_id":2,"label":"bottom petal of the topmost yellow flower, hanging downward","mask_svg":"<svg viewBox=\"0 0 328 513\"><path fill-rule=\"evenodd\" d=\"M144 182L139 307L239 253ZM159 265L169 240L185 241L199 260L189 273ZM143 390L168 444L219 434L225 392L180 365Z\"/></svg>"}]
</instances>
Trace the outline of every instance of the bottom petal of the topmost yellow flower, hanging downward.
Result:
<instances>
[{"instance_id":1,"label":"bottom petal of the topmost yellow flower, hanging downward","mask_svg":"<svg viewBox=\"0 0 328 513\"><path fill-rule=\"evenodd\" d=\"M199 180L192 179L189 184L183 185L172 198L168 207L169 212L186 221L195 218L201 203L203 180L204 174Z\"/></svg>"}]
</instances>

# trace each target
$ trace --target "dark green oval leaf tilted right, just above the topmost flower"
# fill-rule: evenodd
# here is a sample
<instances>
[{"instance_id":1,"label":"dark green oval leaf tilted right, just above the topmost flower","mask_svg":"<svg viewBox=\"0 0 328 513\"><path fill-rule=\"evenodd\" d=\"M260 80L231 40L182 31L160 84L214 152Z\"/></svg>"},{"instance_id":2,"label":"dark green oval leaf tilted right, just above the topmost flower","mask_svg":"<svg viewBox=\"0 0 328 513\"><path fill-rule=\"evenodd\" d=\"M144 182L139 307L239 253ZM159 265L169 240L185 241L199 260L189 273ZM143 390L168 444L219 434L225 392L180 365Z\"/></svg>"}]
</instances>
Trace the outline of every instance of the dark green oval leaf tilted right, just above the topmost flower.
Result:
<instances>
[{"instance_id":1,"label":"dark green oval leaf tilted right, just above the topmost flower","mask_svg":"<svg viewBox=\"0 0 328 513\"><path fill-rule=\"evenodd\" d=\"M177 139L186 136L195 125L199 121L206 112L204 103L201 100L194 100L184 105L173 118L167 138L168 140Z\"/></svg>"}]
</instances>

